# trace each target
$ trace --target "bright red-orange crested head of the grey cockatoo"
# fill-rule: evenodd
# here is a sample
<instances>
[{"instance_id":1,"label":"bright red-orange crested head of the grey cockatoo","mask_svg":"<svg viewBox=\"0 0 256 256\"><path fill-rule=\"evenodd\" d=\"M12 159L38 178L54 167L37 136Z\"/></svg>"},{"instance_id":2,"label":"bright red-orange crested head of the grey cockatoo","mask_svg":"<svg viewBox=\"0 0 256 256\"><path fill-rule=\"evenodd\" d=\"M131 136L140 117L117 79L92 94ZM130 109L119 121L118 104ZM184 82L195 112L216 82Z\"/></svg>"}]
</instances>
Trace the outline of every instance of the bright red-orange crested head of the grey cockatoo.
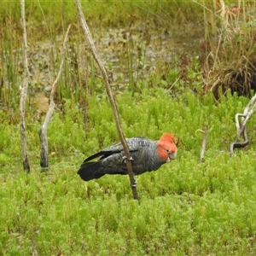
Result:
<instances>
[{"instance_id":1,"label":"bright red-orange crested head of the grey cockatoo","mask_svg":"<svg viewBox=\"0 0 256 256\"><path fill-rule=\"evenodd\" d=\"M166 162L174 160L177 155L177 143L177 137L172 133L164 133L157 142L157 154L160 156L160 159Z\"/></svg>"}]
</instances>

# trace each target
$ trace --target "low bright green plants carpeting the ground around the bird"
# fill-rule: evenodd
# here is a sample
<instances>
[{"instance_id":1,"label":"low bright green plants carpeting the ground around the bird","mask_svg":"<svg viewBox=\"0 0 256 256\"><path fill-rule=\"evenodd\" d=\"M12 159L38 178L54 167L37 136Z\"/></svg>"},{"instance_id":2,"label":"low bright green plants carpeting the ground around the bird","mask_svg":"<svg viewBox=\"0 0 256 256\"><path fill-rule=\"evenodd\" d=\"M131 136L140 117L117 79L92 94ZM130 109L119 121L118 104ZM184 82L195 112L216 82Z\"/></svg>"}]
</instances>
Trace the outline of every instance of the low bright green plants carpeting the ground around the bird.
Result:
<instances>
[{"instance_id":1,"label":"low bright green plants carpeting the ground around the bird","mask_svg":"<svg viewBox=\"0 0 256 256\"><path fill-rule=\"evenodd\" d=\"M236 137L234 114L247 99L229 94L217 106L211 94L201 97L190 90L179 97L161 88L131 95L125 90L116 96L125 136L157 139L172 131L180 140L177 160L137 177L139 203L132 200L128 177L84 183L76 174L86 156L118 140L106 97L88 98L86 123L84 109L73 100L64 113L55 113L46 173L38 163L39 124L28 125L30 175L22 172L18 125L0 124L1 145L6 145L0 155L1 253L256 253L254 143L231 158L228 152ZM200 162L198 130L205 125L207 149Z\"/></svg>"}]
</instances>

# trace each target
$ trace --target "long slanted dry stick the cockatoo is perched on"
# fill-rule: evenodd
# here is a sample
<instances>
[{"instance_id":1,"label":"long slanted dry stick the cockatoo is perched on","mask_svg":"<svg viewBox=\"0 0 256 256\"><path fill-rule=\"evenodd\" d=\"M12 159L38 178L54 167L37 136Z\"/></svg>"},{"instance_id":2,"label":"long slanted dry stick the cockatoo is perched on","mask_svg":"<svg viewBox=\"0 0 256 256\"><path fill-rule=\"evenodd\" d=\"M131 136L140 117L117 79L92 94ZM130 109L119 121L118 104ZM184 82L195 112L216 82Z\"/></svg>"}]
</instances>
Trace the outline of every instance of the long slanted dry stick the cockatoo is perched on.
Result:
<instances>
[{"instance_id":1,"label":"long slanted dry stick the cockatoo is perched on","mask_svg":"<svg viewBox=\"0 0 256 256\"><path fill-rule=\"evenodd\" d=\"M138 200L137 187L136 187L137 182L134 178L134 174L132 172L132 166L131 166L131 160L132 160L131 159L131 154L130 154L128 145L125 141L123 131L121 129L118 109L117 109L116 103L114 101L113 93L112 93L112 90L111 90L109 82L108 82L108 74L107 74L107 71L106 71L105 67L102 64L100 56L98 55L98 53L96 51L96 47L95 47L93 39L91 37L89 27L87 26L86 20L84 19L84 14L83 14L83 11L82 11L82 8L81 8L81 3L80 3L79 0L75 0L75 4L76 4L77 10L78 10L79 20L80 20L82 28L84 30L85 38L87 39L89 47L90 47L90 51L91 51L93 57L95 58L98 66L100 67L100 69L102 71L102 75L103 75L103 79L104 79L104 83L105 83L105 88L107 90L108 98L111 102L111 106L113 108L113 117L114 117L114 120L115 120L117 131L119 133L119 139L120 139L120 141L121 141L121 143L124 147L124 150L125 150L126 166L127 166L127 171L128 171L129 177L130 177L133 198Z\"/></svg>"}]
</instances>

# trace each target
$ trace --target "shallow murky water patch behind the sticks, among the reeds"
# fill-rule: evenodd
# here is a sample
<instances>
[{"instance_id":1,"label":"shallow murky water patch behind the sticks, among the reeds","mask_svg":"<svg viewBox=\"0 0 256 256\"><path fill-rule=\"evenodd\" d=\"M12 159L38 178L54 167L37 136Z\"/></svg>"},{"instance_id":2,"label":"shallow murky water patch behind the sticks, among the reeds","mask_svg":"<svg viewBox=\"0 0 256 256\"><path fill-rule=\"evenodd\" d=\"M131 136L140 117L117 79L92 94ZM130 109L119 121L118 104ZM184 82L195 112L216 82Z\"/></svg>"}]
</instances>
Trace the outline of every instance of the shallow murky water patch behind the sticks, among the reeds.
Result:
<instances>
[{"instance_id":1,"label":"shallow murky water patch behind the sticks, among the reeds","mask_svg":"<svg viewBox=\"0 0 256 256\"><path fill-rule=\"evenodd\" d=\"M203 31L204 28L199 23L169 28L141 23L129 28L101 28L91 33L104 66L112 74L113 88L117 86L122 89L138 79L147 78L150 73L163 68L165 63L171 63L169 66L172 66L177 55L188 58L197 55ZM62 40L62 36L59 36L54 42L45 40L30 44L28 38L28 65L31 73L29 94L36 96L38 92L51 90L59 69ZM23 74L21 48L15 49L14 58L21 74L17 78L17 84L20 84ZM6 61L3 65L8 67L8 53L3 60ZM84 80L90 78L94 72L91 60L84 36L78 38L70 35L67 43L67 65L64 68L65 79L69 76L67 86L77 83L73 81L75 76L80 75ZM101 76L101 73L96 75ZM9 88L13 84L8 78L3 78L3 86Z\"/></svg>"}]
</instances>

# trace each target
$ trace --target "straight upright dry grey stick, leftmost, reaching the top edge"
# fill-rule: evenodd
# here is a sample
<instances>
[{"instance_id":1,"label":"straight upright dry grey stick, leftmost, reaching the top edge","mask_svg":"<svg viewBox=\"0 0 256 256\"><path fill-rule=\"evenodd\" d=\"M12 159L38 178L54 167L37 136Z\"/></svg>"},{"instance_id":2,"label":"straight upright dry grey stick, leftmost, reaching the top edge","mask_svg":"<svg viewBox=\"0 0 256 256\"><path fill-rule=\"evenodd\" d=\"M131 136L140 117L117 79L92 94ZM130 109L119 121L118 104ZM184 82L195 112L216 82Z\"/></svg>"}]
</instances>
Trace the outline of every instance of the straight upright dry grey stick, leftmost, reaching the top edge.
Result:
<instances>
[{"instance_id":1,"label":"straight upright dry grey stick, leftmost, reaching the top edge","mask_svg":"<svg viewBox=\"0 0 256 256\"><path fill-rule=\"evenodd\" d=\"M20 86L20 137L23 156L23 169L30 172L29 161L26 153L26 90L29 79L29 70L27 64L27 42L26 42L26 19L25 19L25 0L20 0L21 5L21 26L23 28L23 65L25 69L23 83Z\"/></svg>"}]
</instances>

